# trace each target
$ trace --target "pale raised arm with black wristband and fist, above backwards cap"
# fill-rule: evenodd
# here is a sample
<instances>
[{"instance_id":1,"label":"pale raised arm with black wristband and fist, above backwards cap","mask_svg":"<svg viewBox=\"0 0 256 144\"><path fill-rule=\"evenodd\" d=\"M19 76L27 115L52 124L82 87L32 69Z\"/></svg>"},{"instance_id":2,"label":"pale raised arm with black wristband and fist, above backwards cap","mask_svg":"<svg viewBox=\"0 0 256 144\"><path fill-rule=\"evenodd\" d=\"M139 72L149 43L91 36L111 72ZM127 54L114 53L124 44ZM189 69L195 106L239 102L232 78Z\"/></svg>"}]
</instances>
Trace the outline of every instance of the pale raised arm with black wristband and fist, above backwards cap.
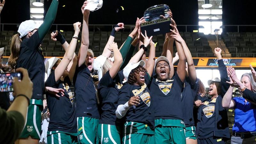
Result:
<instances>
[{"instance_id":1,"label":"pale raised arm with black wristband and fist, above backwards cap","mask_svg":"<svg viewBox=\"0 0 256 144\"><path fill-rule=\"evenodd\" d=\"M120 29L123 29L124 28L124 24L123 23L118 23L116 25L115 28L112 29L112 32L108 38L108 42L102 52L102 55L103 56L106 56L107 58L110 57L110 54L111 54L111 51L109 50L109 45L112 44L114 42L114 39L115 39L115 34L117 31L119 31Z\"/></svg>"}]
</instances>

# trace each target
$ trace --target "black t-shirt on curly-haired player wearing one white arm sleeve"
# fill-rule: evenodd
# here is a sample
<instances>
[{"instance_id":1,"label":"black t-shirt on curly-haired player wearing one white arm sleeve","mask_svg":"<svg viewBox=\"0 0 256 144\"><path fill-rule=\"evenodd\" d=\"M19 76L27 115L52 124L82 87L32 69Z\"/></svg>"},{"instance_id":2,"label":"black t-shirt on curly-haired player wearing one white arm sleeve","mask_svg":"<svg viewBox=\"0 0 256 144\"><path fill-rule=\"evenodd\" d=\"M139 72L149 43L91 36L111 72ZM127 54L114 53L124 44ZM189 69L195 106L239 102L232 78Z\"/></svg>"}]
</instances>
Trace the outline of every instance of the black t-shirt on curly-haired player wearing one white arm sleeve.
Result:
<instances>
[{"instance_id":1,"label":"black t-shirt on curly-haired player wearing one white arm sleeve","mask_svg":"<svg viewBox=\"0 0 256 144\"><path fill-rule=\"evenodd\" d=\"M125 84L119 91L118 105L123 105L133 96L139 96L140 104L131 106L125 115L125 121L148 124L155 128L154 108L152 106L151 94L148 90L149 76L145 76L145 84L136 86Z\"/></svg>"}]
</instances>

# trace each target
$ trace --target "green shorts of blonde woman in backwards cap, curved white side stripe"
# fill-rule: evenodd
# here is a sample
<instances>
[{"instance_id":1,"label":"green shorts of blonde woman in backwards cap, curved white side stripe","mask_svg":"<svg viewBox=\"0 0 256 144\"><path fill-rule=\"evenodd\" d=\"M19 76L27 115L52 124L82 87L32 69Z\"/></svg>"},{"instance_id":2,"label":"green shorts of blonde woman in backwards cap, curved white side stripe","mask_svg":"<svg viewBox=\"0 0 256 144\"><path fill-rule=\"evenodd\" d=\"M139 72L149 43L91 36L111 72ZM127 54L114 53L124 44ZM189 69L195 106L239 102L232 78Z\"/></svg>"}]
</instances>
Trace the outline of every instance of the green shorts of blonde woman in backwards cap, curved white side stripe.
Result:
<instances>
[{"instance_id":1,"label":"green shorts of blonde woman in backwards cap, curved white side stripe","mask_svg":"<svg viewBox=\"0 0 256 144\"><path fill-rule=\"evenodd\" d=\"M121 127L110 124L99 124L97 136L100 144L120 144Z\"/></svg>"}]
</instances>

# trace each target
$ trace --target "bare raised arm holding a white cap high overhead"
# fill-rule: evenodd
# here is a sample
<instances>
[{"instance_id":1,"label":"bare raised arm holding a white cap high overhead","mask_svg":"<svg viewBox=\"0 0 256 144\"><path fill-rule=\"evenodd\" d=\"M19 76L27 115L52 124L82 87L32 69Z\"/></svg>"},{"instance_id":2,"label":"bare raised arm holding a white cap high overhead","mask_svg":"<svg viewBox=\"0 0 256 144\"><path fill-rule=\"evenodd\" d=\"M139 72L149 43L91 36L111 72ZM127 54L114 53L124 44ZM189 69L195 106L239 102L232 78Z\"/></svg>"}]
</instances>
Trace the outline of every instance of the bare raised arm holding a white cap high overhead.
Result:
<instances>
[{"instance_id":1,"label":"bare raised arm holding a white cap high overhead","mask_svg":"<svg viewBox=\"0 0 256 144\"><path fill-rule=\"evenodd\" d=\"M89 20L89 15L90 11L85 10L84 7L87 5L87 1L84 2L84 5L81 8L81 11L83 13L83 28L82 28L82 41L81 41L81 46L78 52L78 57L77 57L77 64L78 67L82 66L85 62L87 50L89 47L89 29L88 29L88 20Z\"/></svg>"}]
</instances>

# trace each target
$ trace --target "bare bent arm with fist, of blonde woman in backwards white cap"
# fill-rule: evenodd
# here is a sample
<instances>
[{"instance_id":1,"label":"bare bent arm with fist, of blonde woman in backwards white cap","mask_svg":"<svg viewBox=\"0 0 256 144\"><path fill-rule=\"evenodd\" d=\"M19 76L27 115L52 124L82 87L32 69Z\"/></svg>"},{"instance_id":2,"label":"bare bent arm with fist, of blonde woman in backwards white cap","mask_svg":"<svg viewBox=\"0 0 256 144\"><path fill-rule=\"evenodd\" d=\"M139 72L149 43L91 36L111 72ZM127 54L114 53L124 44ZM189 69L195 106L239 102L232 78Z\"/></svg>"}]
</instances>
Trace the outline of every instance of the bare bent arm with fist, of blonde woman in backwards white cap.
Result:
<instances>
[{"instance_id":1,"label":"bare bent arm with fist, of blonde woman in backwards white cap","mask_svg":"<svg viewBox=\"0 0 256 144\"><path fill-rule=\"evenodd\" d=\"M118 73L119 68L121 67L121 64L123 63L123 58L122 58L122 55L121 55L120 51L118 50L118 46L115 42L113 42L110 45L109 50L114 52L115 62L109 70L109 75L113 79L116 76L116 74Z\"/></svg>"}]
</instances>

